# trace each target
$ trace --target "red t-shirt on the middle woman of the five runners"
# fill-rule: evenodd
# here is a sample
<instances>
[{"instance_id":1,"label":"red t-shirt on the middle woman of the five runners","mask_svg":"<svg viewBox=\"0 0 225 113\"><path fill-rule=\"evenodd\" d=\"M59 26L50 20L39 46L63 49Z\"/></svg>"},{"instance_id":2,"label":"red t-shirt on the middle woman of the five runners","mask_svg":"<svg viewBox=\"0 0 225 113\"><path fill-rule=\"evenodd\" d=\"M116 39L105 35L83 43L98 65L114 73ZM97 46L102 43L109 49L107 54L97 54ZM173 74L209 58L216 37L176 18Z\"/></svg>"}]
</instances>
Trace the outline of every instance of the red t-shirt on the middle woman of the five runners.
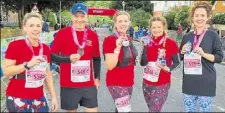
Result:
<instances>
[{"instance_id":1,"label":"red t-shirt on the middle woman of the five runners","mask_svg":"<svg viewBox=\"0 0 225 113\"><path fill-rule=\"evenodd\" d=\"M114 53L116 48L115 35L110 35L104 39L103 42L103 53ZM119 60L122 60L123 52L122 49L119 53ZM131 59L131 62L134 58ZM107 86L132 86L134 84L134 65L128 65L126 67L116 66L112 70L108 70L106 73L106 85Z\"/></svg>"}]
</instances>

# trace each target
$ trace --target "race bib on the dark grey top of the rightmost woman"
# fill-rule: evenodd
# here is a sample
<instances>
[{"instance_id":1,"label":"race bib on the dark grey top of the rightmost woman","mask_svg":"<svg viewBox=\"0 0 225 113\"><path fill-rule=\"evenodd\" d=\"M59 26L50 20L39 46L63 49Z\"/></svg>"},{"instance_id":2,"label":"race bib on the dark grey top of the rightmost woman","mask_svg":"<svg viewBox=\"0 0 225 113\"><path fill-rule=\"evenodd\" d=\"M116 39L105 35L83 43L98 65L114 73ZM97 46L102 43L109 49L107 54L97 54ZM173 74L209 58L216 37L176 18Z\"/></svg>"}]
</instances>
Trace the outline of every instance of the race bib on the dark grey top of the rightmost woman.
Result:
<instances>
[{"instance_id":1,"label":"race bib on the dark grey top of the rightmost woman","mask_svg":"<svg viewBox=\"0 0 225 113\"><path fill-rule=\"evenodd\" d=\"M189 75L202 75L200 55L193 52L184 55L184 73Z\"/></svg>"}]
</instances>

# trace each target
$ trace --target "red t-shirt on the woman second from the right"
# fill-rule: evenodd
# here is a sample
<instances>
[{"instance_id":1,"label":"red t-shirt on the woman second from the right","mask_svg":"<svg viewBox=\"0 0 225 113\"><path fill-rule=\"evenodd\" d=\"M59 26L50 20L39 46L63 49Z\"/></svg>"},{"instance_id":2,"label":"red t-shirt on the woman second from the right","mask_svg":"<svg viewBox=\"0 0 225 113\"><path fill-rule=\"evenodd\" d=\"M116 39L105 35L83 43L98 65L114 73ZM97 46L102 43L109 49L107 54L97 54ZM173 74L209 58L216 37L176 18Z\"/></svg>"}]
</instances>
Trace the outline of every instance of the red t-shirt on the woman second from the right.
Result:
<instances>
[{"instance_id":1,"label":"red t-shirt on the woman second from the right","mask_svg":"<svg viewBox=\"0 0 225 113\"><path fill-rule=\"evenodd\" d=\"M164 36L165 35L162 35L162 36L158 37L157 39L153 38L153 41L158 44ZM160 49L163 48L163 43L161 45L147 46L148 61L155 61L155 62L157 61L159 48ZM166 49L167 66L169 67L172 65L172 56L177 54L179 52L179 49L178 49L176 42L168 37L166 39L165 49ZM171 75L171 72L166 72L161 69L158 82L150 82L145 79L144 79L144 82L151 84L151 85L161 85L161 84L170 83L170 75Z\"/></svg>"}]
</instances>

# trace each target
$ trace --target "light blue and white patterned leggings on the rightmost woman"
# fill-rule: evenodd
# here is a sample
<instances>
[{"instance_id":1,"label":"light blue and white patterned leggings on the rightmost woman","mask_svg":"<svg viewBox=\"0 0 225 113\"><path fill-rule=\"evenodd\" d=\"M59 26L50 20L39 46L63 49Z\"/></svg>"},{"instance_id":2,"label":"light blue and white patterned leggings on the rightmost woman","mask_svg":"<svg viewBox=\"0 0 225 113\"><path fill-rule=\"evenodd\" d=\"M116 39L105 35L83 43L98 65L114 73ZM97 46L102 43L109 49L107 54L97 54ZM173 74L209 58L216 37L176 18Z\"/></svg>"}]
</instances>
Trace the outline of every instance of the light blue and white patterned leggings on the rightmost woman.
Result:
<instances>
[{"instance_id":1,"label":"light blue and white patterned leggings on the rightmost woman","mask_svg":"<svg viewBox=\"0 0 225 113\"><path fill-rule=\"evenodd\" d=\"M186 112L195 112L197 103L199 104L200 112L210 112L213 97L198 96L184 94L184 106Z\"/></svg>"}]
</instances>

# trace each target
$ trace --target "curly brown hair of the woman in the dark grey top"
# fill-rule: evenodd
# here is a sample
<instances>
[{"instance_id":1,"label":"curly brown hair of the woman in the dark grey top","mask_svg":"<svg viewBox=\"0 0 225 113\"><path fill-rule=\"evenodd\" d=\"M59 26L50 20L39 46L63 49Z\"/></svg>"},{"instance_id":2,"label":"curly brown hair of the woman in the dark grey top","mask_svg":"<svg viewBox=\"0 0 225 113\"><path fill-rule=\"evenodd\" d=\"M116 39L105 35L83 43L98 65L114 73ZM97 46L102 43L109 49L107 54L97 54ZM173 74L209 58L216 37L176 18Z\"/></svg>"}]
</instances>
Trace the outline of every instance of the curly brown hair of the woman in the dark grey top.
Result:
<instances>
[{"instance_id":1,"label":"curly brown hair of the woman in the dark grey top","mask_svg":"<svg viewBox=\"0 0 225 113\"><path fill-rule=\"evenodd\" d=\"M194 17L194 12L197 8L204 8L207 13L207 17L209 18L212 14L212 5L206 1L197 1L194 2L189 9L189 20L192 22L192 18Z\"/></svg>"}]
</instances>

